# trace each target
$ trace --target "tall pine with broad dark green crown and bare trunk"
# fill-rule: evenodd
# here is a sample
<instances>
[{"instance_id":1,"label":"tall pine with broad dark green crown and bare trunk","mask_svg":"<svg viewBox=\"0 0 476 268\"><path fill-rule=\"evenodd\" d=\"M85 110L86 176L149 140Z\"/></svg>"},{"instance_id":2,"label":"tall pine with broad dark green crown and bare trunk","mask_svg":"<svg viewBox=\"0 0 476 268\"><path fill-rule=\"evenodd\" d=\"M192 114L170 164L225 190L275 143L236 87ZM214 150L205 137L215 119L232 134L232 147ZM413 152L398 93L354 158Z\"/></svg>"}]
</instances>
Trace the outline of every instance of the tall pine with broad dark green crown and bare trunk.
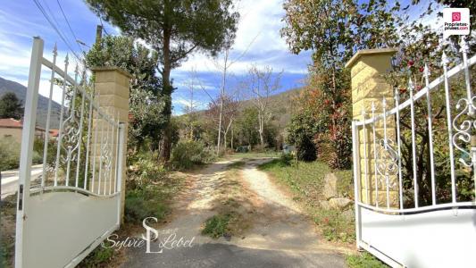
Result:
<instances>
[{"instance_id":1,"label":"tall pine with broad dark green crown and bare trunk","mask_svg":"<svg viewBox=\"0 0 476 268\"><path fill-rule=\"evenodd\" d=\"M188 54L200 50L212 55L234 40L238 13L230 13L232 0L136 1L87 0L91 9L133 37L149 43L159 55L167 126L161 159L171 155L171 69Z\"/></svg>"}]
</instances>

